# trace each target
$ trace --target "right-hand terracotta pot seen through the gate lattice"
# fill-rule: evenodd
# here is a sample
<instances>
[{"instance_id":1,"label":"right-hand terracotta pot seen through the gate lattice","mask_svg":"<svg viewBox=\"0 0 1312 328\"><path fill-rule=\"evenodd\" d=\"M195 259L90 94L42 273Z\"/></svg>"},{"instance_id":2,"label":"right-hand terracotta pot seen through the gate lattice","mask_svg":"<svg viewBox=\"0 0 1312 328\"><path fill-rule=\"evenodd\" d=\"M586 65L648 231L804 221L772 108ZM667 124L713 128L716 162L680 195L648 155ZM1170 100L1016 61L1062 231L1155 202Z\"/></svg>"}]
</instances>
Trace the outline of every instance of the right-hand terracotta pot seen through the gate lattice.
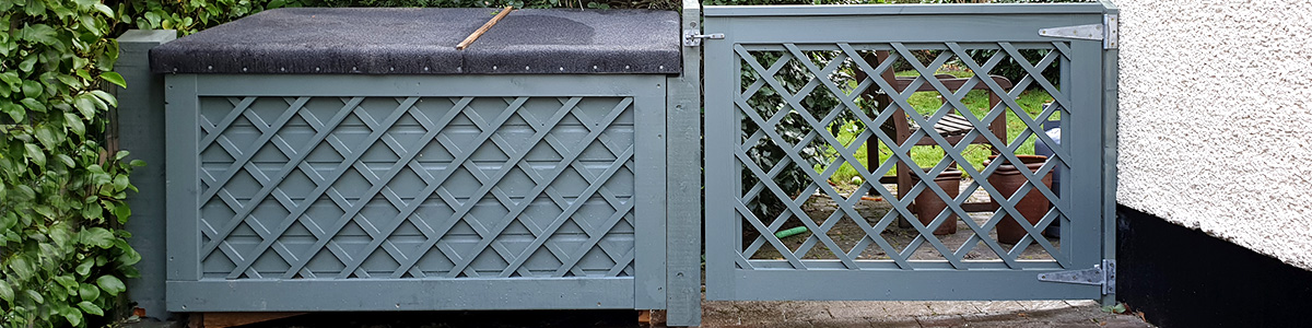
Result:
<instances>
[{"instance_id":1,"label":"right-hand terracotta pot seen through the gate lattice","mask_svg":"<svg viewBox=\"0 0 1312 328\"><path fill-rule=\"evenodd\" d=\"M1048 160L1047 156L1036 156L1036 155L1015 155L1015 156L1019 157L1022 163L1025 163L1025 167L1026 169L1030 171L1030 173L1038 171L1039 167L1043 167L1043 163ZM984 165L988 165L989 161L992 160L996 160L996 156L989 156L989 160L984 161ZM1015 192L1027 181L1014 164L1004 163L1001 167L997 168L997 171L993 171L993 174L989 174L988 182L989 185L993 185L993 188L997 188L997 190L1002 193L1004 197L1010 199L1012 194L1015 194ZM1043 176L1043 186L1050 189L1052 188L1052 172L1048 172L1048 174ZM1001 210L1001 205L996 199L992 201L992 203L993 209ZM1038 224L1039 219L1042 219L1043 215L1048 213L1048 198L1043 197L1043 194L1039 190L1031 188L1029 192L1025 193L1025 197L1022 197L1021 201L1015 203L1015 210L1021 213L1022 216L1025 216L1026 222L1030 222L1030 226ZM1017 223L1010 214L1006 214L1002 218L1002 222L997 224L997 241L1000 243L1015 244L1017 241L1021 241L1021 239L1025 237L1025 235L1026 235L1025 228L1022 228L1021 224Z\"/></svg>"}]
</instances>

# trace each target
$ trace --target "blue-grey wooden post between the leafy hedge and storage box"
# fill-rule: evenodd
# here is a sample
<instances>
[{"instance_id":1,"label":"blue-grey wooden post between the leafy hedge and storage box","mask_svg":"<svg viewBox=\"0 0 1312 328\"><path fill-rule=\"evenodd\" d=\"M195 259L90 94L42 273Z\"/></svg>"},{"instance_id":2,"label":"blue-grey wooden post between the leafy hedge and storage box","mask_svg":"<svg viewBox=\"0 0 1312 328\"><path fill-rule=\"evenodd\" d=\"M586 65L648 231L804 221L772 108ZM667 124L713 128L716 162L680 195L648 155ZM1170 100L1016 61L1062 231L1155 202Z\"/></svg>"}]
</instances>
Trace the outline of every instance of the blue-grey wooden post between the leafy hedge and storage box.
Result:
<instances>
[{"instance_id":1,"label":"blue-grey wooden post between the leafy hedge and storage box","mask_svg":"<svg viewBox=\"0 0 1312 328\"><path fill-rule=\"evenodd\" d=\"M118 139L127 160L143 160L133 171L127 205L133 218L125 228L133 232L129 244L142 253L136 262L139 278L127 279L127 297L147 318L167 319L164 310L164 76L151 73L150 50L177 38L173 30L129 30L118 37L119 56L114 71L123 75L127 88L113 88L118 97Z\"/></svg>"}]
</instances>

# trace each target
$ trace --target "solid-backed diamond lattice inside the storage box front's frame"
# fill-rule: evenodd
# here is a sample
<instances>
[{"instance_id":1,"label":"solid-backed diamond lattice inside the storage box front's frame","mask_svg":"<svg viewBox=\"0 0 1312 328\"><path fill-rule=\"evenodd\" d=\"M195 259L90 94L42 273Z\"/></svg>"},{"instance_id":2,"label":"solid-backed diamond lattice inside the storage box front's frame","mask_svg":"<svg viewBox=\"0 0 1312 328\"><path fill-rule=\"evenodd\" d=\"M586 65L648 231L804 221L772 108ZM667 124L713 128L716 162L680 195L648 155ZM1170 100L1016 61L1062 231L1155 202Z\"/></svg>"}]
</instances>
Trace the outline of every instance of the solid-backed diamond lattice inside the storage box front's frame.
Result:
<instances>
[{"instance_id":1,"label":"solid-backed diamond lattice inside the storage box front's frame","mask_svg":"<svg viewBox=\"0 0 1312 328\"><path fill-rule=\"evenodd\" d=\"M626 277L627 97L202 97L206 278Z\"/></svg>"}]
</instances>

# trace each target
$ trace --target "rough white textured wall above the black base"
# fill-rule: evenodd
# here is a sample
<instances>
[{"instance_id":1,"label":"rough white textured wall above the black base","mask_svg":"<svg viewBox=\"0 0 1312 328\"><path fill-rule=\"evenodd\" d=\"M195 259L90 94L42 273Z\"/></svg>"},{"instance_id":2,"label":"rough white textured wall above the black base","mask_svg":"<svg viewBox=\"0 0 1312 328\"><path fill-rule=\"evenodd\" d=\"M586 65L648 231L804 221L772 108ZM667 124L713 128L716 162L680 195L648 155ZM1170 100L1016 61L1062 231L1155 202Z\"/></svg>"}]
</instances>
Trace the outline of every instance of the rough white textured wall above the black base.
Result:
<instances>
[{"instance_id":1,"label":"rough white textured wall above the black base","mask_svg":"<svg viewBox=\"0 0 1312 328\"><path fill-rule=\"evenodd\" d=\"M1312 1L1114 1L1118 202L1312 270Z\"/></svg>"}]
</instances>

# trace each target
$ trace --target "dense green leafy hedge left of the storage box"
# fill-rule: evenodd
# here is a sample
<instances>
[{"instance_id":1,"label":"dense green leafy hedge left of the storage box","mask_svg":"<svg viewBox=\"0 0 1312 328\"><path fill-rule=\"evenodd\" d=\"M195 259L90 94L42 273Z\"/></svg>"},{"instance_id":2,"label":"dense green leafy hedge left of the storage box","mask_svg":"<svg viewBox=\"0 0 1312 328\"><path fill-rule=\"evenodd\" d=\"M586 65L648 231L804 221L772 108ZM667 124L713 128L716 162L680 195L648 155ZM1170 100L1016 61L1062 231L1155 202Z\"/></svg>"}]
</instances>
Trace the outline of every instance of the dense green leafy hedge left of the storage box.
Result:
<instances>
[{"instance_id":1,"label":"dense green leafy hedge left of the storage box","mask_svg":"<svg viewBox=\"0 0 1312 328\"><path fill-rule=\"evenodd\" d=\"M0 0L0 325L85 327L140 256L126 152L104 143L118 46L96 0ZM140 163L138 163L140 164Z\"/></svg>"}]
</instances>

